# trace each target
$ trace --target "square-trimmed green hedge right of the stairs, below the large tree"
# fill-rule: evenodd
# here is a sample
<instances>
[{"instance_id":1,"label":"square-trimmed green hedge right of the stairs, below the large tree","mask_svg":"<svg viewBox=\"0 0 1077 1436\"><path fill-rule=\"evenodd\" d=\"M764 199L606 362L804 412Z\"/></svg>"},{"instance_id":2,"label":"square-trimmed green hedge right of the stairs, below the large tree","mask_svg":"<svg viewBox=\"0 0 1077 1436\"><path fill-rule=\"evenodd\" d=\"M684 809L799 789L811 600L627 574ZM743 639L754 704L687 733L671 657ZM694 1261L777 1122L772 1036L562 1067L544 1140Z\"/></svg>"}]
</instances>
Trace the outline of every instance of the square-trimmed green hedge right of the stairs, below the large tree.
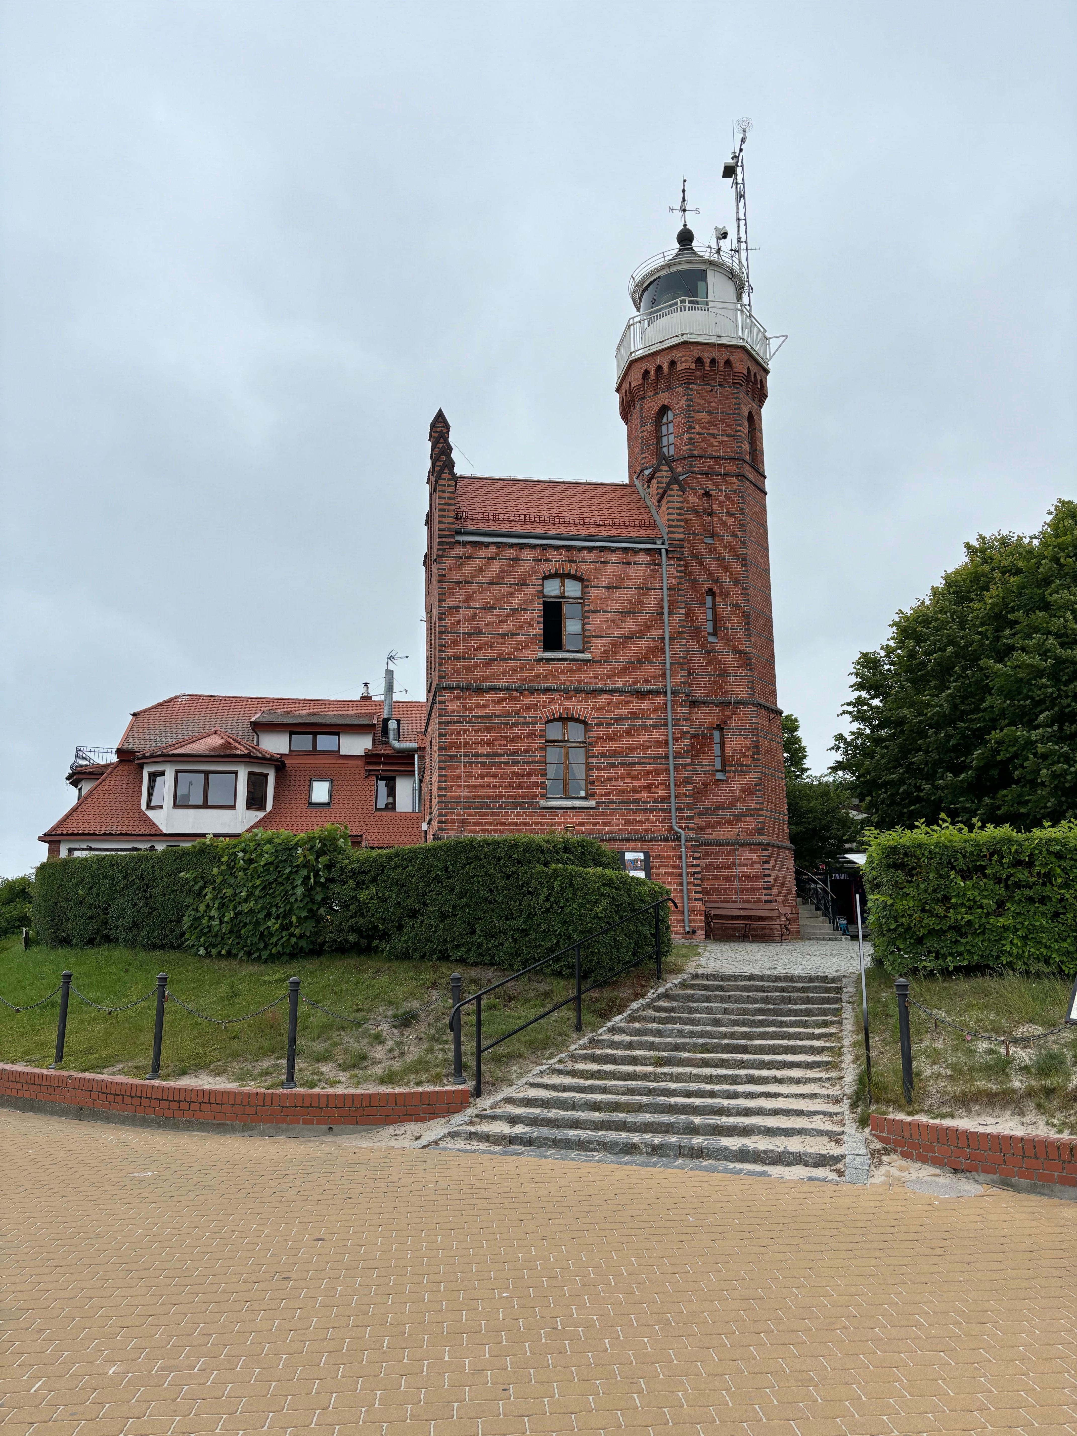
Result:
<instances>
[{"instance_id":1,"label":"square-trimmed green hedge right of the stairs, below the large tree","mask_svg":"<svg viewBox=\"0 0 1077 1436\"><path fill-rule=\"evenodd\" d=\"M1077 972L1077 823L869 834L864 885L887 972Z\"/></svg>"}]
</instances>

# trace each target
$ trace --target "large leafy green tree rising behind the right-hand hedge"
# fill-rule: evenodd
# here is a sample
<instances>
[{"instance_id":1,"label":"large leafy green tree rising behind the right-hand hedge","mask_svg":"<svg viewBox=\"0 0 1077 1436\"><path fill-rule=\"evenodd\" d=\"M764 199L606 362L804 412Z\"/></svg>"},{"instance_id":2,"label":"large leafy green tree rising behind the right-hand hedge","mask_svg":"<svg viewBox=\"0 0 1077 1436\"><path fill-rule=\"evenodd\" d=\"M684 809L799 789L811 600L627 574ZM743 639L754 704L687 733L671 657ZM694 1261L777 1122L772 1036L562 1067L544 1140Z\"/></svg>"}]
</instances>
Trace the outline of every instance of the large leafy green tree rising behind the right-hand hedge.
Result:
<instances>
[{"instance_id":1,"label":"large leafy green tree rising behind the right-hand hedge","mask_svg":"<svg viewBox=\"0 0 1077 1436\"><path fill-rule=\"evenodd\" d=\"M853 663L834 768L877 827L1077 819L1077 503L979 536Z\"/></svg>"}]
</instances>

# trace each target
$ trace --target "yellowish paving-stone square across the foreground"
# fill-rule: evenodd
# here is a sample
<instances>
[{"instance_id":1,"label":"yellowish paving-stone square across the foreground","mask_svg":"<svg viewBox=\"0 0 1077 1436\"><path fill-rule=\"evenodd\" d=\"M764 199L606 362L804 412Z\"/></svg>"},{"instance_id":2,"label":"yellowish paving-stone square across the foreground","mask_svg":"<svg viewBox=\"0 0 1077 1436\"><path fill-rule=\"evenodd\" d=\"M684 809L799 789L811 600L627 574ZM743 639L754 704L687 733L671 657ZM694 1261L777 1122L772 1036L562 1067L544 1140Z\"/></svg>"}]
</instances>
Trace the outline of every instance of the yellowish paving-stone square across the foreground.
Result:
<instances>
[{"instance_id":1,"label":"yellowish paving-stone square across the foreground","mask_svg":"<svg viewBox=\"0 0 1077 1436\"><path fill-rule=\"evenodd\" d=\"M1077 1205L0 1111L1 1436L1077 1432Z\"/></svg>"}]
</instances>

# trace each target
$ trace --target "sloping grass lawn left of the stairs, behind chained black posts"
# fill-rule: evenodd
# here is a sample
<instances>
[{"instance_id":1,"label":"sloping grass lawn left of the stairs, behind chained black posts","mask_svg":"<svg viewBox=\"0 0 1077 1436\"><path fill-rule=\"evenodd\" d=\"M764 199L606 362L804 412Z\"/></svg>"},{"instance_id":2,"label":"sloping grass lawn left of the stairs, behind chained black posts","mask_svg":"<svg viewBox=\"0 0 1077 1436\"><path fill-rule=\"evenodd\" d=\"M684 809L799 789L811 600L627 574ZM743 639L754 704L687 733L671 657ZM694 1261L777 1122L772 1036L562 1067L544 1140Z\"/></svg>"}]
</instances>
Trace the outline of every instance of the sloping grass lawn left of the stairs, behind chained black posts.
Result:
<instances>
[{"instance_id":1,"label":"sloping grass lawn left of the stairs, behind chained black posts","mask_svg":"<svg viewBox=\"0 0 1077 1436\"><path fill-rule=\"evenodd\" d=\"M675 943L663 974L682 972L698 951ZM342 1022L306 1004L299 1008L296 1081L300 1087L422 1087L452 1076L448 1031L449 974L460 971L464 997L505 976L494 968L449 962L393 962L376 954L302 958L292 964L233 962L188 952L141 952L128 948L40 948L22 951L22 939L0 939L0 997L20 1007L36 1002L69 968L73 987L102 1007L131 1002L157 988L157 974L184 1002L211 1017L240 1017L302 979L302 992L358 1021ZM643 997L655 981L653 966L640 964L609 987L583 999L583 1030L592 1032ZM569 997L569 978L521 978L482 1002L485 1041L518 1027L543 1008ZM99 1012L72 991L67 1012L65 1071L145 1077L154 1045L154 998L128 1012ZM0 1061L46 1067L56 1047L59 997L34 1012L0 1007ZM474 1078L474 1008L464 1014L464 1071ZM284 1081L287 1002L270 1012L221 1028L191 1017L178 1004L165 1008L162 1080L210 1081L247 1087L280 1087ZM554 1057L576 1040L574 1010L561 1008L544 1022L482 1058L485 1091L504 1087L536 1063Z\"/></svg>"}]
</instances>

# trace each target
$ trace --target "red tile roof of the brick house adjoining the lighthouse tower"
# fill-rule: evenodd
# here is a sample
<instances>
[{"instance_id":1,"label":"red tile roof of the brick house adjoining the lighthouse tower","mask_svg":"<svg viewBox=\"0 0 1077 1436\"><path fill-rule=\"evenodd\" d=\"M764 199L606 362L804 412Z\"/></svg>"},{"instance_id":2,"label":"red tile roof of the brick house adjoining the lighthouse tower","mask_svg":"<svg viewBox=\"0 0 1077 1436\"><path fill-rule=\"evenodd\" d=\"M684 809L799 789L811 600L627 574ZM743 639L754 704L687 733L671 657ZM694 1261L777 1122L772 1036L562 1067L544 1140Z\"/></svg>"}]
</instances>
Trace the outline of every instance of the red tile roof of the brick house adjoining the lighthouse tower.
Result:
<instances>
[{"instance_id":1,"label":"red tile roof of the brick house adjoining the lighthouse tower","mask_svg":"<svg viewBox=\"0 0 1077 1436\"><path fill-rule=\"evenodd\" d=\"M457 523L491 533L550 533L658 540L635 484L537 478L458 478Z\"/></svg>"}]
</instances>

